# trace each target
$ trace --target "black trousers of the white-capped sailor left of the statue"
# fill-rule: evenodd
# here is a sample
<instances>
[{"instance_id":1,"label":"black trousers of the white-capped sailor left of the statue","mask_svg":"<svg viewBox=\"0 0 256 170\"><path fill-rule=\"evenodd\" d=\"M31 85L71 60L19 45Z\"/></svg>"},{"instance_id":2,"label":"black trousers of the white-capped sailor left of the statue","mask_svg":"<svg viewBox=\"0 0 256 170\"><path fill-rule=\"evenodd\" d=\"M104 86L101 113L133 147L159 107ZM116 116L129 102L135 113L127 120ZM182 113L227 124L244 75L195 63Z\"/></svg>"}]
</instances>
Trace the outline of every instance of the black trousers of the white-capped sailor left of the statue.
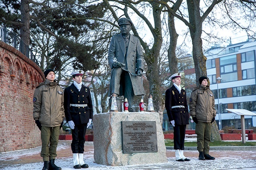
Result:
<instances>
[{"instance_id":1,"label":"black trousers of the white-capped sailor left of the statue","mask_svg":"<svg viewBox=\"0 0 256 170\"><path fill-rule=\"evenodd\" d=\"M72 129L71 150L73 153L84 153L86 127L87 123L75 125L75 128Z\"/></svg>"}]
</instances>

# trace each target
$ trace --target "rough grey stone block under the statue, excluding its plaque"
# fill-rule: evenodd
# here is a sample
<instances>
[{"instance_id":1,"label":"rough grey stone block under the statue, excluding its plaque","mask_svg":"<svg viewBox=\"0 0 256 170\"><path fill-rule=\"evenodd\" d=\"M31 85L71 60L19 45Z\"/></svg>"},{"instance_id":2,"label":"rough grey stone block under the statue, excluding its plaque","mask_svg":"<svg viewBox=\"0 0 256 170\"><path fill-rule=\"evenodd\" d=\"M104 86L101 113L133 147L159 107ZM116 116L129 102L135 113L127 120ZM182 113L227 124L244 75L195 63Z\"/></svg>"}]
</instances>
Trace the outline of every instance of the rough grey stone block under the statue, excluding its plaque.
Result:
<instances>
[{"instance_id":1,"label":"rough grey stone block under the statue, excluding its plaque","mask_svg":"<svg viewBox=\"0 0 256 170\"><path fill-rule=\"evenodd\" d=\"M121 121L156 121L158 152L123 153ZM94 160L97 164L125 166L167 162L159 114L156 112L108 112L93 117Z\"/></svg>"}]
</instances>

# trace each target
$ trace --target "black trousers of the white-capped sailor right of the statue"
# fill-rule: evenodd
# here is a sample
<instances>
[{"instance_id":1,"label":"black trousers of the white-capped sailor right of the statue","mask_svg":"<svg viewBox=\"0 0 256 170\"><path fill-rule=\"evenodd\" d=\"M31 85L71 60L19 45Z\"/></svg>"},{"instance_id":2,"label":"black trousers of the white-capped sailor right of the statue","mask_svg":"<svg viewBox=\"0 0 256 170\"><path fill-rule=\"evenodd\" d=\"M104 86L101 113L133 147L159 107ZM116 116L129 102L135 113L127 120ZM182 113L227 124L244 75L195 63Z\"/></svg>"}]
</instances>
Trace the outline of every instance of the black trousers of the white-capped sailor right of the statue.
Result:
<instances>
[{"instance_id":1,"label":"black trousers of the white-capped sailor right of the statue","mask_svg":"<svg viewBox=\"0 0 256 170\"><path fill-rule=\"evenodd\" d=\"M186 126L187 125L175 125L173 127L173 142L174 142L174 149L184 150L184 140L185 140L185 133L186 133Z\"/></svg>"}]
</instances>

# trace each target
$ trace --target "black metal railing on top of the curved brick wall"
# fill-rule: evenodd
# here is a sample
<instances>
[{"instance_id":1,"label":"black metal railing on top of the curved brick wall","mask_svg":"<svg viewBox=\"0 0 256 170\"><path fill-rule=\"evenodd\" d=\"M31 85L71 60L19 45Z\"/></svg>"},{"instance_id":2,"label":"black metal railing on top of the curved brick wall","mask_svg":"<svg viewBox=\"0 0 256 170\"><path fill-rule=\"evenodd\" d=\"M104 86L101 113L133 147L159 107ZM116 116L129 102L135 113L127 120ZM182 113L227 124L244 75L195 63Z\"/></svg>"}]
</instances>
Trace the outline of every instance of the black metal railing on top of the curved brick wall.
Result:
<instances>
[{"instance_id":1,"label":"black metal railing on top of the curved brick wall","mask_svg":"<svg viewBox=\"0 0 256 170\"><path fill-rule=\"evenodd\" d=\"M28 47L28 45L21 41L16 34L12 33L2 25L0 25L0 31L0 41L3 41L4 43L16 48L39 66L36 55L33 54L32 50Z\"/></svg>"}]
</instances>

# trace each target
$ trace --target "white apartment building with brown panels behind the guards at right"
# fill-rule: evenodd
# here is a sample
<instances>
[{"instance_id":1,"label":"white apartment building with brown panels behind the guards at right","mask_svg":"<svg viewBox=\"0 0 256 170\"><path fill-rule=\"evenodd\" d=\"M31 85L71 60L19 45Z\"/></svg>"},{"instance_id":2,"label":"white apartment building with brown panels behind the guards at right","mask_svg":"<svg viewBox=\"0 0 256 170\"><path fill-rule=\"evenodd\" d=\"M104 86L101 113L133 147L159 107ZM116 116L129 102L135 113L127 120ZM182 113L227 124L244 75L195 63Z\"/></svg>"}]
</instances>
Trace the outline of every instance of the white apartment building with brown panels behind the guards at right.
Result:
<instances>
[{"instance_id":1,"label":"white apartment building with brown panels behind the guards at right","mask_svg":"<svg viewBox=\"0 0 256 170\"><path fill-rule=\"evenodd\" d=\"M211 48L204 53L210 89L215 98L216 121L220 125L221 120L222 128L241 129L240 116L228 113L227 108L247 109L256 113L255 51L256 40L248 39L227 47ZM217 81L218 78L221 80ZM256 116L245 116L246 129L253 126L256 126Z\"/></svg>"}]
</instances>

